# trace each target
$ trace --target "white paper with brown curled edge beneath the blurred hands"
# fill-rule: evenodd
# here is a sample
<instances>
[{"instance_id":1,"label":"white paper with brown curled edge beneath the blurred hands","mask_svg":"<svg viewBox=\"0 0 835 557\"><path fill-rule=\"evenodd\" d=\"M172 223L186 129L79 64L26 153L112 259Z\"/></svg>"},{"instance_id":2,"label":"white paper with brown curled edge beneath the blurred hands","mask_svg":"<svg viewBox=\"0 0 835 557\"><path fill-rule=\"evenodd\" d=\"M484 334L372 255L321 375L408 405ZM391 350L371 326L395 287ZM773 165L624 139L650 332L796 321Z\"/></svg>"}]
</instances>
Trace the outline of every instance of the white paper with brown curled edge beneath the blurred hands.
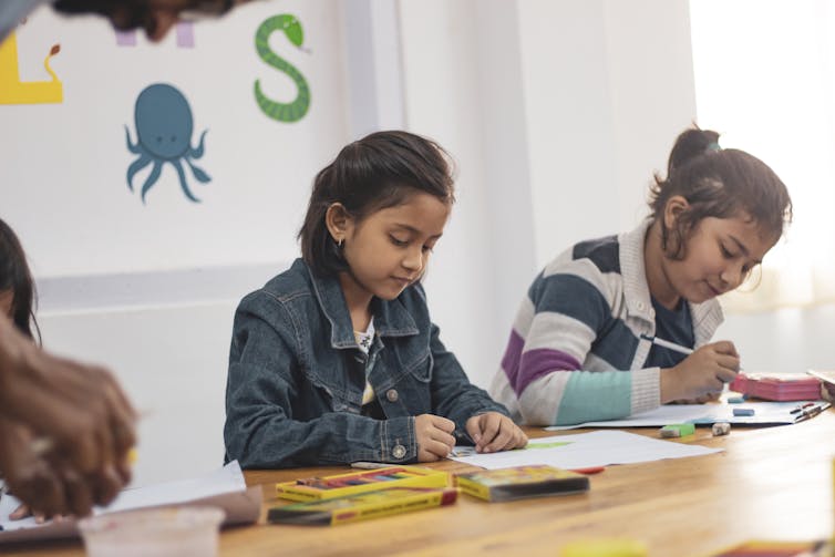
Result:
<instances>
[{"instance_id":1,"label":"white paper with brown curled edge beneath the blurred hands","mask_svg":"<svg viewBox=\"0 0 835 557\"><path fill-rule=\"evenodd\" d=\"M9 520L9 514L19 504L11 495L3 495L0 499L0 544L79 535L74 519L47 524L37 524L33 517ZM226 512L225 526L255 523L261 512L261 487L247 488L240 465L233 461L204 477L125 489L106 507L94 508L93 514L185 504L223 508Z\"/></svg>"}]
</instances>

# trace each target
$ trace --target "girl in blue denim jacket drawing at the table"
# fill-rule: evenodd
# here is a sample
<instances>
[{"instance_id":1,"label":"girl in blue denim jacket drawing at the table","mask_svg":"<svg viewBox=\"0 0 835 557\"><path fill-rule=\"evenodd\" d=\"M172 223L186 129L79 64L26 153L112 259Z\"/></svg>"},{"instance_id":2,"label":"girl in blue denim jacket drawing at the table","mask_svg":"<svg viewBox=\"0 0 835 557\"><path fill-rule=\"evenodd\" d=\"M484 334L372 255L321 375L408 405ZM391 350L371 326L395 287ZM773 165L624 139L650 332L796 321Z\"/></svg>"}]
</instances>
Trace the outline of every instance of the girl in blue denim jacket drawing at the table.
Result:
<instances>
[{"instance_id":1,"label":"girl in blue denim jacket drawing at the table","mask_svg":"<svg viewBox=\"0 0 835 557\"><path fill-rule=\"evenodd\" d=\"M429 462L456 442L480 452L527 443L430 320L420 279L454 200L447 161L423 137L379 132L317 175L302 258L235 316L227 461Z\"/></svg>"}]
</instances>

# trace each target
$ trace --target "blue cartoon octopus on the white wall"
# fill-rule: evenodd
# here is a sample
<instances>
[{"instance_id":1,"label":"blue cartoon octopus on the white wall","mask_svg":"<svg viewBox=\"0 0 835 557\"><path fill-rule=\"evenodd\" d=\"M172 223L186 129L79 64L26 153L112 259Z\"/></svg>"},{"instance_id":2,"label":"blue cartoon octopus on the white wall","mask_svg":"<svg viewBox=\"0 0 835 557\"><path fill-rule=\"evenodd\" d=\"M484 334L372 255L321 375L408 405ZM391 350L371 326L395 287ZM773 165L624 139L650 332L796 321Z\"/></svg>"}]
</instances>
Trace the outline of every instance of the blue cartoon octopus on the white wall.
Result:
<instances>
[{"instance_id":1,"label":"blue cartoon octopus on the white wall","mask_svg":"<svg viewBox=\"0 0 835 557\"><path fill-rule=\"evenodd\" d=\"M188 189L186 175L182 162L192 168L194 177L200 183L210 182L212 178L203 169L192 163L203 156L203 141L208 130L200 135L200 144L197 147L189 145L194 123L192 109L183 93L165 83L155 83L145 87L136 97L134 110L136 122L136 144L131 142L131 132L125 125L127 148L140 158L127 168L127 187L133 192L133 177L145 166L154 163L151 174L142 185L142 203L145 203L145 194L148 193L159 178L163 165L171 163L179 175L179 185L183 193L194 203L200 200Z\"/></svg>"}]
</instances>

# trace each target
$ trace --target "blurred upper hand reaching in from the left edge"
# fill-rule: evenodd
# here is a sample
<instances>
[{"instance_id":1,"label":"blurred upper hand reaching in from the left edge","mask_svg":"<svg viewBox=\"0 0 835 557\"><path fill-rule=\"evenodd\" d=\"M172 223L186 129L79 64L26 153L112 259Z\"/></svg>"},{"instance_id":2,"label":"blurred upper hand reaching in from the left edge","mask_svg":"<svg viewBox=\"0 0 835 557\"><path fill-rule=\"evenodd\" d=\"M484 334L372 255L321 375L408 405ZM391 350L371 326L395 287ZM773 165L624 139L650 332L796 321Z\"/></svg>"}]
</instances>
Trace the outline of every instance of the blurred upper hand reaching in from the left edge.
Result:
<instances>
[{"instance_id":1,"label":"blurred upper hand reaching in from the left edge","mask_svg":"<svg viewBox=\"0 0 835 557\"><path fill-rule=\"evenodd\" d=\"M110 372L47 353L6 317L0 317L0 417L49 440L68 471L85 475L107 475L116 466L125 472L136 442L136 414Z\"/></svg>"}]
</instances>

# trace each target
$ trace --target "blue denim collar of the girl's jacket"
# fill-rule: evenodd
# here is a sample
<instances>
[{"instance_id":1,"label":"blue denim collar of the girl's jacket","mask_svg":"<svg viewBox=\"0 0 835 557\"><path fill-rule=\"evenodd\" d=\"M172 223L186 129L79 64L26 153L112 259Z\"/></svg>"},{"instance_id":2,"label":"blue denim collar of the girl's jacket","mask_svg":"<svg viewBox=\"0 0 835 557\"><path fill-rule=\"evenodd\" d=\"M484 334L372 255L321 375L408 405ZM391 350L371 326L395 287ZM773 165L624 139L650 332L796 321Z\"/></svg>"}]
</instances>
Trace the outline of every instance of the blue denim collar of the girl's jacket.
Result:
<instances>
[{"instance_id":1,"label":"blue denim collar of the girl's jacket","mask_svg":"<svg viewBox=\"0 0 835 557\"><path fill-rule=\"evenodd\" d=\"M310 272L310 269L308 269ZM355 348L351 314L348 311L342 286L333 276L317 277L310 272L313 292L322 312L331 324L330 343L333 348ZM416 288L410 286L409 288ZM386 301L379 298L371 300L371 313L374 317L374 330L379 337L411 337L418 334L418 326L400 299Z\"/></svg>"}]
</instances>

